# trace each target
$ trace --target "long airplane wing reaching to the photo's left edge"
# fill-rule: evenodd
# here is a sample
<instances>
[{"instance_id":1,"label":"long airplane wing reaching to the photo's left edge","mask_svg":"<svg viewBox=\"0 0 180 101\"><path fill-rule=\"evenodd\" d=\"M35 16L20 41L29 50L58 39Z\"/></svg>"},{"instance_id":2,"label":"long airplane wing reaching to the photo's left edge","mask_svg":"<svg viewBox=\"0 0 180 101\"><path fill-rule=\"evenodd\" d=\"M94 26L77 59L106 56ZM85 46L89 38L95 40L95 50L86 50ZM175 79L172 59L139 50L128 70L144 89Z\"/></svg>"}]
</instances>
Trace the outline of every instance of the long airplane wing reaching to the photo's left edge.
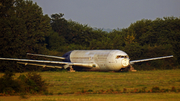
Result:
<instances>
[{"instance_id":1,"label":"long airplane wing reaching to the photo's left edge","mask_svg":"<svg viewBox=\"0 0 180 101\"><path fill-rule=\"evenodd\" d=\"M71 62L61 62L61 61L31 60L31 59L17 59L17 58L0 58L0 60L18 61L17 63L25 64L25 65L36 65L43 67L65 68L65 69L70 66L93 68L95 65L93 63L71 63Z\"/></svg>"}]
</instances>

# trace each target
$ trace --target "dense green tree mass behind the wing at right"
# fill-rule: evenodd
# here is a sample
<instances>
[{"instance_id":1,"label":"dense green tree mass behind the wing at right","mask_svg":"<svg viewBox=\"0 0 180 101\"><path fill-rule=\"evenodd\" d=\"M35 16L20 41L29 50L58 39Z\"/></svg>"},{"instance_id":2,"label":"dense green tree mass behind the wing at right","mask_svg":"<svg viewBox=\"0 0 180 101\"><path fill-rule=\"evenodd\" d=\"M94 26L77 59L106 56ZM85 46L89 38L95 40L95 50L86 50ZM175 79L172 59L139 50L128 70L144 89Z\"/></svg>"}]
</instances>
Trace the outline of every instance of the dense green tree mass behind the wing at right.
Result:
<instances>
[{"instance_id":1,"label":"dense green tree mass behind the wing at right","mask_svg":"<svg viewBox=\"0 0 180 101\"><path fill-rule=\"evenodd\" d=\"M134 36L133 43L125 45L122 49L126 51L131 59L143 59L149 57L166 56L174 54L176 61L179 59L179 26L180 19L176 17L157 18L156 20L142 19L131 24L127 29L123 29L125 38ZM130 38L130 37L129 37ZM133 37L132 37L133 38ZM131 38L131 39L132 39ZM134 47L133 47L134 46ZM172 69L175 59L139 63L138 69ZM135 65L136 67L136 65Z\"/></svg>"}]
</instances>

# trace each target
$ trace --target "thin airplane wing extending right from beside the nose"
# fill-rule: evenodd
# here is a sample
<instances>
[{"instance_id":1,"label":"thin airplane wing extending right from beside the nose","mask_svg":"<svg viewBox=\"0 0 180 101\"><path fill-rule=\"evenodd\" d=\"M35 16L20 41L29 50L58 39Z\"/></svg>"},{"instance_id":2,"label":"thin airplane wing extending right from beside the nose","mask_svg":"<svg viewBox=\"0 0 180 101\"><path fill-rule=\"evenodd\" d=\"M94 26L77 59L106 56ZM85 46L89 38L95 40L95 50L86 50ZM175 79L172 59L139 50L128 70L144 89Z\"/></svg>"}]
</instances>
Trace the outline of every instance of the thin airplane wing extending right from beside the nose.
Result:
<instances>
[{"instance_id":1,"label":"thin airplane wing extending right from beside the nose","mask_svg":"<svg viewBox=\"0 0 180 101\"><path fill-rule=\"evenodd\" d=\"M163 56L163 57L156 57L156 58L148 58L148 59L141 59L141 60L132 60L130 61L130 64L134 64L137 62L145 62L145 61L151 61L151 60L158 60L158 59L166 59L166 58L172 58L173 55L170 56Z\"/></svg>"}]
</instances>

